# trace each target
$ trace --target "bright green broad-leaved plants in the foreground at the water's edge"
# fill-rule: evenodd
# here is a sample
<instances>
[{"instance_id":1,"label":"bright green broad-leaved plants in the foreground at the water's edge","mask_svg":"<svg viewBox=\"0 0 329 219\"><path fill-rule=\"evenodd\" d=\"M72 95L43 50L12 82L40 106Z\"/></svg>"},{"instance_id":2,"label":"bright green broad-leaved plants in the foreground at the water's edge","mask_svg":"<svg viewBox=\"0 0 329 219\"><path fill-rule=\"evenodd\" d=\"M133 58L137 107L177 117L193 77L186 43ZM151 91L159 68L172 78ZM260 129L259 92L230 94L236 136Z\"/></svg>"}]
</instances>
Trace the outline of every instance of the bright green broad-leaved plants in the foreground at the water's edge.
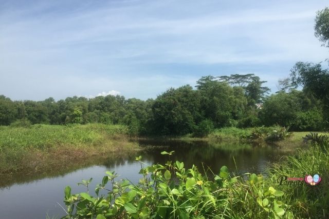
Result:
<instances>
[{"instance_id":1,"label":"bright green broad-leaved plants in the foreground at the water's edge","mask_svg":"<svg viewBox=\"0 0 329 219\"><path fill-rule=\"evenodd\" d=\"M162 152L171 155L171 152ZM67 215L63 218L293 218L282 203L284 193L264 184L262 175L231 176L226 166L215 174L201 174L196 166L183 162L143 166L137 185L116 181L108 171L95 193L71 194L65 188ZM100 192L102 191L102 192Z\"/></svg>"}]
</instances>

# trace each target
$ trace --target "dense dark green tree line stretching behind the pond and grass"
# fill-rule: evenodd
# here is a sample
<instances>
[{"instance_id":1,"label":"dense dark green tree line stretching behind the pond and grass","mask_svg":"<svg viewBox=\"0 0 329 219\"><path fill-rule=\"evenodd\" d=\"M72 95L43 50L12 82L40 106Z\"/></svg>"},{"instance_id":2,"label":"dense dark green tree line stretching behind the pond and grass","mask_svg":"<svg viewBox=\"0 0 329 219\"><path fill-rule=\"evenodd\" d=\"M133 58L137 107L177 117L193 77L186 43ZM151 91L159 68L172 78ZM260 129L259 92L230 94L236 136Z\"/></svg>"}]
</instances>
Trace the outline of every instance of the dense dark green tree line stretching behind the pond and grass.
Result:
<instances>
[{"instance_id":1,"label":"dense dark green tree line stretching behind the pond and grass","mask_svg":"<svg viewBox=\"0 0 329 219\"><path fill-rule=\"evenodd\" d=\"M329 47L329 8L317 12L315 36ZM329 127L329 70L323 63L296 63L271 95L265 82L254 74L208 75L196 82L195 89L170 88L147 101L120 95L11 101L0 95L0 125L125 124L132 134L161 135L204 135L213 128L276 124L308 131Z\"/></svg>"}]
</instances>

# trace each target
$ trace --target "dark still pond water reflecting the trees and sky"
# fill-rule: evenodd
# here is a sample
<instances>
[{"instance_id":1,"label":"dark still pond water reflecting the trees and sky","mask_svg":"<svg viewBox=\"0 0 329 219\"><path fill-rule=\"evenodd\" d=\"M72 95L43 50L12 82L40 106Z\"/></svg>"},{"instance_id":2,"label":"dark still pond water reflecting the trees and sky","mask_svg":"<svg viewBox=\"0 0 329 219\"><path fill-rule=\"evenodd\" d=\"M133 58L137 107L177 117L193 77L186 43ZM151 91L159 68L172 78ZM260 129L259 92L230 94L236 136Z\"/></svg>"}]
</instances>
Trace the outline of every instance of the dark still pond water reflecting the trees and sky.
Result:
<instances>
[{"instance_id":1,"label":"dark still pond water reflecting the trees and sky","mask_svg":"<svg viewBox=\"0 0 329 219\"><path fill-rule=\"evenodd\" d=\"M65 208L63 197L66 186L72 188L72 193L84 192L85 188L77 186L77 183L82 179L93 177L90 190L94 191L96 184L102 181L107 170L118 172L120 178L129 178L133 183L138 182L141 175L138 174L140 163L135 161L137 155L142 155L142 161L148 165L164 164L169 157L161 155L160 152L174 150L171 160L183 161L187 168L195 164L201 171L204 164L205 168L209 166L217 173L223 165L226 165L230 171L236 172L237 168L239 173L264 173L269 162L278 161L282 155L288 153L273 146L260 147L241 143L211 144L153 140L138 140L137 143L145 147L145 150L120 157L114 155L107 161L100 162L101 165L84 167L33 181L30 177L24 181L22 174L17 179L17 183L0 189L0 218L46 218L47 214L50 218L60 218L65 215L60 205Z\"/></svg>"}]
</instances>

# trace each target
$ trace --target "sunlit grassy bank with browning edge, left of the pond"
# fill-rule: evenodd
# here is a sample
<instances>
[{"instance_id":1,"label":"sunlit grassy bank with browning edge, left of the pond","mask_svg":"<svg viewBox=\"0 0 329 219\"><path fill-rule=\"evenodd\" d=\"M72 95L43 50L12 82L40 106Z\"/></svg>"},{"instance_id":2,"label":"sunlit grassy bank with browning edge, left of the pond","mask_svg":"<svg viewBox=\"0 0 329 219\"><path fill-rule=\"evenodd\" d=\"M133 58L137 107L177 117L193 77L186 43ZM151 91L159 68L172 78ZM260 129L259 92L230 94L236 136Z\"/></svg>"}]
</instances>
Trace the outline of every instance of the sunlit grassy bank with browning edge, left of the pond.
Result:
<instances>
[{"instance_id":1,"label":"sunlit grassy bank with browning edge, left of the pond","mask_svg":"<svg viewBox=\"0 0 329 219\"><path fill-rule=\"evenodd\" d=\"M0 174L44 172L136 148L127 127L87 124L0 127Z\"/></svg>"}]
</instances>

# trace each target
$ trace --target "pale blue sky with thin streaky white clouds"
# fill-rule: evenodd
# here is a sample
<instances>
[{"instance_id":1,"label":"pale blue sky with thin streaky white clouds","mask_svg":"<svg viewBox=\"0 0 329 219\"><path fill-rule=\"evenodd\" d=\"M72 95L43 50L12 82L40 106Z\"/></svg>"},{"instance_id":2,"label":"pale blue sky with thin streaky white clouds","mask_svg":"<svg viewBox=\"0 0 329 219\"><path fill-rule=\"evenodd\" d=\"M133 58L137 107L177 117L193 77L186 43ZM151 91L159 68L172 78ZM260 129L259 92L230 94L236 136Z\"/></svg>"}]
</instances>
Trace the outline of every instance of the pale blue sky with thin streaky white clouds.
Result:
<instances>
[{"instance_id":1,"label":"pale blue sky with thin streaky white clouds","mask_svg":"<svg viewBox=\"0 0 329 219\"><path fill-rule=\"evenodd\" d=\"M205 75L254 73L277 91L321 62L327 1L1 1L0 94L155 98Z\"/></svg>"}]
</instances>

